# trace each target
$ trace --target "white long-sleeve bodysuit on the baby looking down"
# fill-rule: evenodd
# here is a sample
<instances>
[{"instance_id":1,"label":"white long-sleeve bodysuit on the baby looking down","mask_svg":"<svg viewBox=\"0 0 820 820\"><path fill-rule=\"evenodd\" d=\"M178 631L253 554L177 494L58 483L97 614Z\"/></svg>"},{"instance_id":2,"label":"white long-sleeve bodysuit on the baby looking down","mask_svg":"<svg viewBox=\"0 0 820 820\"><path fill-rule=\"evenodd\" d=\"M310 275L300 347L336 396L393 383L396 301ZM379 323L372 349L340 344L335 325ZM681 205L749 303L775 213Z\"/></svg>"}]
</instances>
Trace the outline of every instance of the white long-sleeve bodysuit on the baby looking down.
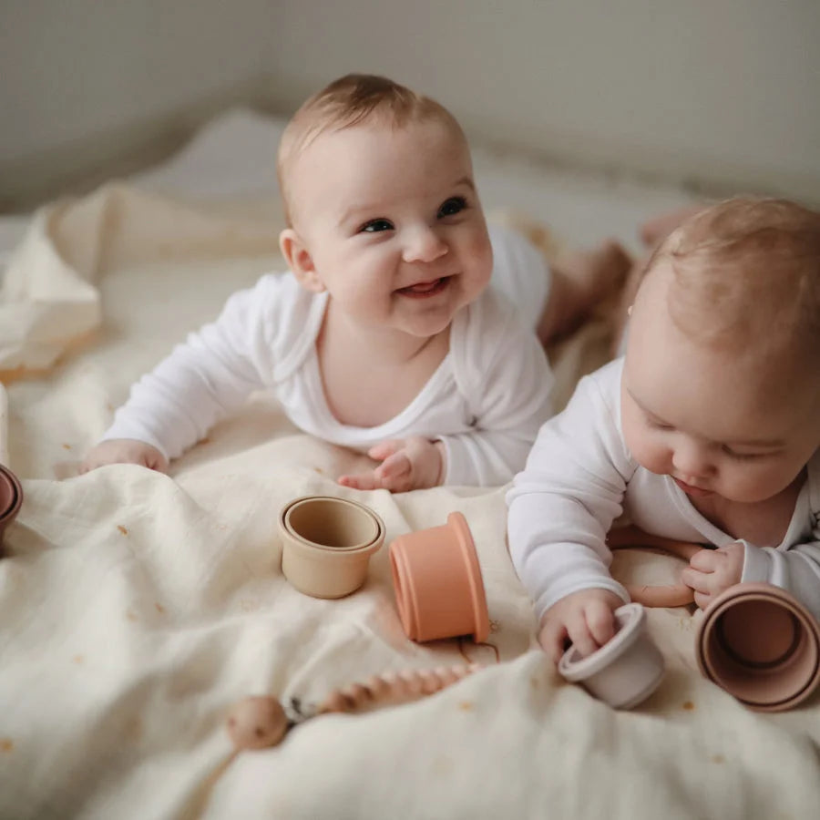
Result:
<instances>
[{"instance_id":1,"label":"white long-sleeve bodysuit on the baby looking down","mask_svg":"<svg viewBox=\"0 0 820 820\"><path fill-rule=\"evenodd\" d=\"M652 535L715 547L738 540L703 518L671 477L632 458L620 425L622 370L616 359L579 382L566 409L541 428L507 493L510 554L538 619L579 589L610 589L629 600L610 577L605 545L622 511ZM806 472L783 541L743 541L741 580L787 589L820 618L820 450Z\"/></svg>"}]
</instances>

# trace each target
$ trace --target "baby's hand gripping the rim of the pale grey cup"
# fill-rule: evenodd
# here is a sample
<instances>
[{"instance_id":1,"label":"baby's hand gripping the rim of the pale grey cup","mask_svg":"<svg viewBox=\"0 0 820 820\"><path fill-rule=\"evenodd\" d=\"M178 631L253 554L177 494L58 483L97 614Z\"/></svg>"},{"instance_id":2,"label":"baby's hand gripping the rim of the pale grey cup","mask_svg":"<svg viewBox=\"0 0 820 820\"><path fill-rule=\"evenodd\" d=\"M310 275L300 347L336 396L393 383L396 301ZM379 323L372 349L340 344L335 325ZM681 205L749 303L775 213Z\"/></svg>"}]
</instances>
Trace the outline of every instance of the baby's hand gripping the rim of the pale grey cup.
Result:
<instances>
[{"instance_id":1,"label":"baby's hand gripping the rim of the pale grey cup","mask_svg":"<svg viewBox=\"0 0 820 820\"><path fill-rule=\"evenodd\" d=\"M583 657L615 635L615 610L623 601L609 589L581 589L554 603L541 618L538 643L555 663L569 641Z\"/></svg>"}]
</instances>

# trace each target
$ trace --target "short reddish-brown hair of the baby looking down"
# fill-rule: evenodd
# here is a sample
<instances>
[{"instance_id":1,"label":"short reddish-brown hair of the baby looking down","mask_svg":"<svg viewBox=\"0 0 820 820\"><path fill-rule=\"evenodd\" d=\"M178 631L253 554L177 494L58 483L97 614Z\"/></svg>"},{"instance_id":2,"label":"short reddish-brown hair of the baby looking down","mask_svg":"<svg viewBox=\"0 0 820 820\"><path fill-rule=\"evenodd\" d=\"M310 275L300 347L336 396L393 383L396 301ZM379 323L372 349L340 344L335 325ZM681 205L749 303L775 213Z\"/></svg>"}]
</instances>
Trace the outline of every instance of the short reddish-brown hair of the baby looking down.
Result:
<instances>
[{"instance_id":1,"label":"short reddish-brown hair of the baby looking down","mask_svg":"<svg viewBox=\"0 0 820 820\"><path fill-rule=\"evenodd\" d=\"M737 197L686 220L653 254L669 261L671 320L705 343L820 350L820 213Z\"/></svg>"}]
</instances>

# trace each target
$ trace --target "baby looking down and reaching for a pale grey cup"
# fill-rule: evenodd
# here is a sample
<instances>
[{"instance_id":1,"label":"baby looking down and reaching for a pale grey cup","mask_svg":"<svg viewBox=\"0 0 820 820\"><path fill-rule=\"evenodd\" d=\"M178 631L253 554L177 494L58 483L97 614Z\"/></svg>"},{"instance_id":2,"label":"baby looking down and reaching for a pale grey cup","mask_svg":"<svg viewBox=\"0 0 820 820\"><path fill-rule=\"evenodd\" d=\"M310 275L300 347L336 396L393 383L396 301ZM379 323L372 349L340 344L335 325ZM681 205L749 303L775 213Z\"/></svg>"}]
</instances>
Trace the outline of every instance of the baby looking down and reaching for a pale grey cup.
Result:
<instances>
[{"instance_id":1,"label":"baby looking down and reaching for a pale grey cup","mask_svg":"<svg viewBox=\"0 0 820 820\"><path fill-rule=\"evenodd\" d=\"M583 379L507 495L509 544L559 659L614 634L612 522L704 547L705 607L741 581L820 618L820 214L784 200L702 210L651 256L626 354Z\"/></svg>"}]
</instances>

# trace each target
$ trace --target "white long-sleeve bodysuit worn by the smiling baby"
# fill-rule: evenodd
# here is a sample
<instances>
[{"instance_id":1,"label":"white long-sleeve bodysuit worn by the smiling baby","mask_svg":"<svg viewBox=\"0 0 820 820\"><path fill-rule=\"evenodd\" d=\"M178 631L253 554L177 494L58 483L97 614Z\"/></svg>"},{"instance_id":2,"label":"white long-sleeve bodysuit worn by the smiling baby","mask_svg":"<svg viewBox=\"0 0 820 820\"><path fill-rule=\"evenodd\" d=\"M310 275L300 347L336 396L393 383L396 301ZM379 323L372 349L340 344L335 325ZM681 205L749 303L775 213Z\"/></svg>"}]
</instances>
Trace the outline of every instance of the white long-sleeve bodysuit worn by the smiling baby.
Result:
<instances>
[{"instance_id":1,"label":"white long-sleeve bodysuit worn by the smiling baby","mask_svg":"<svg viewBox=\"0 0 820 820\"><path fill-rule=\"evenodd\" d=\"M456 313L449 353L410 405L383 425L343 425L333 417L315 345L328 294L306 291L288 272L266 274L233 294L214 323L190 333L131 388L103 438L137 439L175 458L251 392L268 388L293 424L313 436L362 451L386 438L427 436L446 448L446 484L505 484L550 415L553 377L532 332L549 272L518 234L492 229L490 238L492 287Z\"/></svg>"}]
</instances>

